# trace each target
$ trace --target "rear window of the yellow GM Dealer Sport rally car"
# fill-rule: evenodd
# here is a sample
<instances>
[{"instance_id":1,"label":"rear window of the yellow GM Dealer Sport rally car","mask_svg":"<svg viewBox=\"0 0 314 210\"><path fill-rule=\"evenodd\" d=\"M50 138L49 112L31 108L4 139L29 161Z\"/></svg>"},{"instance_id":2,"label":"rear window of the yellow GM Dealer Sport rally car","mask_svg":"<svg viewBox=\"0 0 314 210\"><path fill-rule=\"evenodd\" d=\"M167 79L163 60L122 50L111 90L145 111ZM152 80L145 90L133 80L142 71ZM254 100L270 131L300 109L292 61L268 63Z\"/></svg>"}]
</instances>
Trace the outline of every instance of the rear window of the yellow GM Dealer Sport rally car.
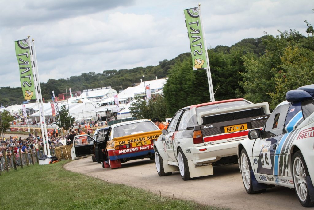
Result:
<instances>
[{"instance_id":1,"label":"rear window of the yellow GM Dealer Sport rally car","mask_svg":"<svg viewBox=\"0 0 314 210\"><path fill-rule=\"evenodd\" d=\"M115 127L113 138L157 130L159 130L159 128L157 128L153 122L136 122Z\"/></svg>"}]
</instances>

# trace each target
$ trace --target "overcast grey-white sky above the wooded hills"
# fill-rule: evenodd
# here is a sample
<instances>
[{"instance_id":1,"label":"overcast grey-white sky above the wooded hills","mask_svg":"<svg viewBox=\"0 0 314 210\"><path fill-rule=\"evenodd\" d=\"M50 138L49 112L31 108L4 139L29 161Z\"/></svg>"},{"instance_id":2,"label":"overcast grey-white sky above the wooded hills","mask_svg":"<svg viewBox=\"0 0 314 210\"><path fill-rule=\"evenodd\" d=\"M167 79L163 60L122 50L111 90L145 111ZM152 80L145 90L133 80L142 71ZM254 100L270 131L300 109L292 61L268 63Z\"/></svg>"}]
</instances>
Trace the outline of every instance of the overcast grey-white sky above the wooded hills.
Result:
<instances>
[{"instance_id":1,"label":"overcast grey-white sky above the wooded hills","mask_svg":"<svg viewBox=\"0 0 314 210\"><path fill-rule=\"evenodd\" d=\"M21 85L14 41L27 35L41 82L155 66L190 52L183 9L198 3L207 48L278 29L306 35L304 20L314 25L312 0L0 0L0 87Z\"/></svg>"}]
</instances>

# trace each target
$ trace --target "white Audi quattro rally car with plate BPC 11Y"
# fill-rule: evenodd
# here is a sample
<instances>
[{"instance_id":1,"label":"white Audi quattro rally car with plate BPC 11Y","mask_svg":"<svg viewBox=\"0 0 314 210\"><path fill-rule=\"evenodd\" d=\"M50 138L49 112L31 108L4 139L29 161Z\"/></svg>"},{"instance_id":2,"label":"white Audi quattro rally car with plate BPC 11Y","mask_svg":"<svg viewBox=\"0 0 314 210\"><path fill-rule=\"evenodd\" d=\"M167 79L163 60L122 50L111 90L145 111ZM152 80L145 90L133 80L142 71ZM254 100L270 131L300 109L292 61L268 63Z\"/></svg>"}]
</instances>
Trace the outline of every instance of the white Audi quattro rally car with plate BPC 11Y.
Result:
<instances>
[{"instance_id":1,"label":"white Audi quattro rally car with plate BPC 11Y","mask_svg":"<svg viewBox=\"0 0 314 210\"><path fill-rule=\"evenodd\" d=\"M213 174L213 164L236 163L238 141L263 128L268 103L231 99L184 107L154 142L159 176L180 171L183 180Z\"/></svg>"}]
</instances>

